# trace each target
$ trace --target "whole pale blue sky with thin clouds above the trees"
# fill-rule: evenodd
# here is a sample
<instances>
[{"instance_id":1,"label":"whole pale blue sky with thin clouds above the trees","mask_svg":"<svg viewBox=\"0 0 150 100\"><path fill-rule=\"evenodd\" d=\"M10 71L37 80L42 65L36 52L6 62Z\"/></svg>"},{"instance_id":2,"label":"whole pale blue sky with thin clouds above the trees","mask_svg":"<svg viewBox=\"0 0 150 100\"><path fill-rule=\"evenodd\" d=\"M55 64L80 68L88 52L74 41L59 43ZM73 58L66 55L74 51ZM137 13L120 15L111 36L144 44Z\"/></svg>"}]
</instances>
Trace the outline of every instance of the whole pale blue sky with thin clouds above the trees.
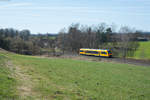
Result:
<instances>
[{"instance_id":1,"label":"whole pale blue sky with thin clouds above the trees","mask_svg":"<svg viewBox=\"0 0 150 100\"><path fill-rule=\"evenodd\" d=\"M0 28L58 33L102 22L150 31L150 0L0 0Z\"/></svg>"}]
</instances>

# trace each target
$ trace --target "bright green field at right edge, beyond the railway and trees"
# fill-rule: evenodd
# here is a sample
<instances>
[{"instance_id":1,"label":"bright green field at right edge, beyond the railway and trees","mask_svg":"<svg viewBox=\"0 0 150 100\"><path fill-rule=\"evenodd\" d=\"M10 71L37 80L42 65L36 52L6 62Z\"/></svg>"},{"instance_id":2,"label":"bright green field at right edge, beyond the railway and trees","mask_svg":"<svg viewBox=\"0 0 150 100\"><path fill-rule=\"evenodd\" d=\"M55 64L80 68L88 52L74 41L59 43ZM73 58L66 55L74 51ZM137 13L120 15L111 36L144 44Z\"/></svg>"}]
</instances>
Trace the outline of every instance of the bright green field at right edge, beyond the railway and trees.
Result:
<instances>
[{"instance_id":1,"label":"bright green field at right edge, beyond the railway and trees","mask_svg":"<svg viewBox=\"0 0 150 100\"><path fill-rule=\"evenodd\" d=\"M140 42L140 46L135 52L134 58L150 59L150 42Z\"/></svg>"}]
</instances>

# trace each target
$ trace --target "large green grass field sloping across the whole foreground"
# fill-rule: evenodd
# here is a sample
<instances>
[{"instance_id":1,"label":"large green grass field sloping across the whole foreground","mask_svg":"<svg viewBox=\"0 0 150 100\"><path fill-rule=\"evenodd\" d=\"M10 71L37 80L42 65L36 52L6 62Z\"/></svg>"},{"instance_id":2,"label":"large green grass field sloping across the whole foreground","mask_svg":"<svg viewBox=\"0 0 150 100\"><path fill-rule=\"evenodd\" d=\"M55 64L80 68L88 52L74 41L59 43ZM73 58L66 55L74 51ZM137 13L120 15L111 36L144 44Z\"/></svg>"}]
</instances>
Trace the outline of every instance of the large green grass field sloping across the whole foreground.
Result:
<instances>
[{"instance_id":1,"label":"large green grass field sloping across the whole foreground","mask_svg":"<svg viewBox=\"0 0 150 100\"><path fill-rule=\"evenodd\" d=\"M0 67L2 100L150 100L150 67L10 53L0 59L9 59L16 74L8 78Z\"/></svg>"}]
</instances>

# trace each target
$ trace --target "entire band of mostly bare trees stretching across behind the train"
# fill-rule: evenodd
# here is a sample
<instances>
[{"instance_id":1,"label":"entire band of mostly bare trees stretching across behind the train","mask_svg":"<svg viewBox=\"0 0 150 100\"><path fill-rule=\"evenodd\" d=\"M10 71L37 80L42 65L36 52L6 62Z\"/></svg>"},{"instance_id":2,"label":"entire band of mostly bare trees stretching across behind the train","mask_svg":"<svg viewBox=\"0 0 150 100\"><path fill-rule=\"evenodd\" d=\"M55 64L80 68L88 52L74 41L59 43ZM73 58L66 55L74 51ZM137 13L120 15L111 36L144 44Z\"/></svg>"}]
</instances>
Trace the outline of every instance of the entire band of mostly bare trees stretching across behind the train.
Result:
<instances>
[{"instance_id":1,"label":"entire band of mostly bare trees stretching across behind the train","mask_svg":"<svg viewBox=\"0 0 150 100\"><path fill-rule=\"evenodd\" d=\"M56 52L78 53L80 48L111 49L115 56L133 56L141 32L127 26L118 32L104 23L97 26L72 24L59 34L31 34L29 30L0 29L0 48L26 54L40 55Z\"/></svg>"}]
</instances>

